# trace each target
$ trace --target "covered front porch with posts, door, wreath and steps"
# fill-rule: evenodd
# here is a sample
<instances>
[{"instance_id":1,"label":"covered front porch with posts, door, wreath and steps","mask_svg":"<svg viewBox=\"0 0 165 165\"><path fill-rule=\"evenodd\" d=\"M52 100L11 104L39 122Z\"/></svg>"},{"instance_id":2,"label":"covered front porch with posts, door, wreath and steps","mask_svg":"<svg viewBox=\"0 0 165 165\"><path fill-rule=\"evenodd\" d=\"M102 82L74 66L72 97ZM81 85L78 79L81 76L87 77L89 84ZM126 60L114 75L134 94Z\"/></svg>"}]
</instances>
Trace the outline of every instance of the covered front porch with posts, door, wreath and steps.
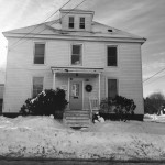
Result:
<instances>
[{"instance_id":1,"label":"covered front porch with posts, door, wreath and steps","mask_svg":"<svg viewBox=\"0 0 165 165\"><path fill-rule=\"evenodd\" d=\"M89 127L94 110L98 111L101 98L103 68L52 67L53 89L66 91L68 106L63 121L69 127ZM94 101L95 100L95 101Z\"/></svg>"}]
</instances>

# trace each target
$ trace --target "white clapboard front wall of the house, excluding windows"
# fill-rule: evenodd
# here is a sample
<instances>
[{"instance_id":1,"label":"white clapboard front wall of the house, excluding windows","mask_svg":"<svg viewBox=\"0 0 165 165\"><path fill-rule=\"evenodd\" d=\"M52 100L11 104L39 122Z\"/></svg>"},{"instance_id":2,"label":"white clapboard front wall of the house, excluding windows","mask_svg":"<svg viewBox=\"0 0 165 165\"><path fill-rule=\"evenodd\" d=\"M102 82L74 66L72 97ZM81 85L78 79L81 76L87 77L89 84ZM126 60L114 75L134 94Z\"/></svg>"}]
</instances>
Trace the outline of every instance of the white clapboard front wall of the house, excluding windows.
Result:
<instances>
[{"instance_id":1,"label":"white clapboard front wall of the house, excluding windows","mask_svg":"<svg viewBox=\"0 0 165 165\"><path fill-rule=\"evenodd\" d=\"M16 38L9 38L9 45ZM33 64L34 42L46 43L44 65ZM57 41L35 40L18 44L8 52L7 79L4 90L3 112L19 112L26 98L32 96L32 77L44 77L44 88L53 88L53 73L51 66L70 66L70 45L82 44L82 67L101 67L101 98L107 97L107 79L117 78L119 81L119 95L133 99L138 105L135 113L143 113L142 91L142 64L141 45L138 43L112 42L85 42L85 41ZM118 45L118 67L107 67L107 45ZM89 81L86 81L86 79ZM98 96L98 78L84 77L84 87L87 82L94 86L91 95ZM57 76L56 87L68 87L68 77ZM84 92L84 108L88 108L89 94ZM66 97L68 98L68 89Z\"/></svg>"}]
</instances>

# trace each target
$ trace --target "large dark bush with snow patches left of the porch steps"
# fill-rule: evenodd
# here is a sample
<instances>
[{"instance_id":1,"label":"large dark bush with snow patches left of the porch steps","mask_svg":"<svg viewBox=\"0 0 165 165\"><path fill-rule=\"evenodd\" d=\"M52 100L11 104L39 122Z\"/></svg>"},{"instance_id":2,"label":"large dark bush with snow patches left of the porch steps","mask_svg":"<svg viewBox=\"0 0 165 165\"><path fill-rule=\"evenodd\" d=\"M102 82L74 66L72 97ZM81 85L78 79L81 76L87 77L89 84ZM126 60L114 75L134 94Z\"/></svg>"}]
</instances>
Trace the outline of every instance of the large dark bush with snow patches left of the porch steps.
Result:
<instances>
[{"instance_id":1,"label":"large dark bush with snow patches left of the porch steps","mask_svg":"<svg viewBox=\"0 0 165 165\"><path fill-rule=\"evenodd\" d=\"M29 98L25 103L21 107L20 113L28 116L62 116L64 109L67 106L67 100L65 99L65 90L57 88L45 89L38 94L35 98ZM62 113L59 113L59 111ZM61 117L62 118L62 117Z\"/></svg>"}]
</instances>

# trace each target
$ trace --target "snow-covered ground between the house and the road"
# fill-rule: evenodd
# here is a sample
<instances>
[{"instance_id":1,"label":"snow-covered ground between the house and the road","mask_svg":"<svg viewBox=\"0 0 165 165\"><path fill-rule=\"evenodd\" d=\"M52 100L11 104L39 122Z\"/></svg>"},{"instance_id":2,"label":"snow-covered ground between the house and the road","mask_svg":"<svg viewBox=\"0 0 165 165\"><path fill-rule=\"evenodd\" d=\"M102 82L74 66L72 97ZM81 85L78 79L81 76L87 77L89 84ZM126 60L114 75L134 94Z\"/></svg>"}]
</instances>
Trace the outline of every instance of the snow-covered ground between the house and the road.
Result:
<instances>
[{"instance_id":1,"label":"snow-covered ground between the house and the road","mask_svg":"<svg viewBox=\"0 0 165 165\"><path fill-rule=\"evenodd\" d=\"M165 124L106 121L74 130L50 117L0 117L0 156L165 160Z\"/></svg>"}]
</instances>

